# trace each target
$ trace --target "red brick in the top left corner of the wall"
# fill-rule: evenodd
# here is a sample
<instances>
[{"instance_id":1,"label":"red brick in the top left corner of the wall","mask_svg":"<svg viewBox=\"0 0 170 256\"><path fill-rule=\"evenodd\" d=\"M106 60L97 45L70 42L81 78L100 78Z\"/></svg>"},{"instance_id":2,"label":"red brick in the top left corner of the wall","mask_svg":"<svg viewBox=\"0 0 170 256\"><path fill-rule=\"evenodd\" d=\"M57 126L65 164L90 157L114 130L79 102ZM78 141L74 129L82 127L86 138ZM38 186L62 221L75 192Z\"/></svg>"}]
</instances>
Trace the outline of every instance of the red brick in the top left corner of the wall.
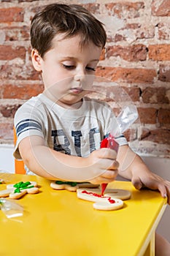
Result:
<instances>
[{"instance_id":1,"label":"red brick in the top left corner of the wall","mask_svg":"<svg viewBox=\"0 0 170 256\"><path fill-rule=\"evenodd\" d=\"M23 21L23 8L10 7L0 9L0 23L8 22L22 22Z\"/></svg>"}]
</instances>

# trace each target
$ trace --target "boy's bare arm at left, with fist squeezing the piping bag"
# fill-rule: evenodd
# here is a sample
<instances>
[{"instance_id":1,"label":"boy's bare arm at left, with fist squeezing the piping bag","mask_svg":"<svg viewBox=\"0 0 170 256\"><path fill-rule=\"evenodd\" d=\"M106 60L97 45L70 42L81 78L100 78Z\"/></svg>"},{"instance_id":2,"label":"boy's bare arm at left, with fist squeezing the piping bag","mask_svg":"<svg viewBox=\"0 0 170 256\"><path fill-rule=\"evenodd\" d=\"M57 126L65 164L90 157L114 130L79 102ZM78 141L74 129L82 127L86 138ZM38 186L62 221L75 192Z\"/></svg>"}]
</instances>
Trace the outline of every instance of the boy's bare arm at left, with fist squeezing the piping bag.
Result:
<instances>
[{"instance_id":1,"label":"boy's bare arm at left, with fist squeezing the piping bag","mask_svg":"<svg viewBox=\"0 0 170 256\"><path fill-rule=\"evenodd\" d=\"M42 137L34 135L21 140L18 148L29 170L45 178L101 184L117 176L116 153L109 148L93 151L89 157L69 156L48 148Z\"/></svg>"}]
</instances>

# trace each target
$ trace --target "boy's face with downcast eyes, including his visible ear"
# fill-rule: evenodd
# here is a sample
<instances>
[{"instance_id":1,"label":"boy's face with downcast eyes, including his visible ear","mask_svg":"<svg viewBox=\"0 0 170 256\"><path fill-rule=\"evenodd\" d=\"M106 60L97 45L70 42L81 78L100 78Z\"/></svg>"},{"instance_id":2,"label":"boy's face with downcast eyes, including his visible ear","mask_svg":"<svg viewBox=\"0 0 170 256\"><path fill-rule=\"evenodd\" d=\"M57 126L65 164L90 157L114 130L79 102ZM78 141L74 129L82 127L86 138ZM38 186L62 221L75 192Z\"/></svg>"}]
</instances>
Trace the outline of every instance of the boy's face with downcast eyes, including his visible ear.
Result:
<instances>
[{"instance_id":1,"label":"boy's face with downcast eyes, including his visible ear","mask_svg":"<svg viewBox=\"0 0 170 256\"><path fill-rule=\"evenodd\" d=\"M80 46L80 36L53 39L53 48L43 59L32 50L34 68L42 72L45 94L63 108L78 108L93 84L101 47L90 42Z\"/></svg>"}]
</instances>

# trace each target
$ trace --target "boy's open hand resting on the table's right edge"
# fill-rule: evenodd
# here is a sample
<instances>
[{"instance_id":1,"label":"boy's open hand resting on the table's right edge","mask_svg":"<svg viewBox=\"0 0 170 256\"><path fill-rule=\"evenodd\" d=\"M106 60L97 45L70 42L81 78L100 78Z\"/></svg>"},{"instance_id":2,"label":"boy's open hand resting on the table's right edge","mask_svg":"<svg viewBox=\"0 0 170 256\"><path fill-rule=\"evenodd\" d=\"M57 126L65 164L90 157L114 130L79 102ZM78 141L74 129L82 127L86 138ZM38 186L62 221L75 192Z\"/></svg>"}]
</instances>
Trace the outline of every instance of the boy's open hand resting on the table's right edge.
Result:
<instances>
[{"instance_id":1,"label":"boy's open hand resting on the table's right edge","mask_svg":"<svg viewBox=\"0 0 170 256\"><path fill-rule=\"evenodd\" d=\"M166 181L152 172L136 173L131 178L131 182L136 189L147 187L153 190L159 190L162 197L167 197L167 203L170 205L170 181Z\"/></svg>"}]
</instances>

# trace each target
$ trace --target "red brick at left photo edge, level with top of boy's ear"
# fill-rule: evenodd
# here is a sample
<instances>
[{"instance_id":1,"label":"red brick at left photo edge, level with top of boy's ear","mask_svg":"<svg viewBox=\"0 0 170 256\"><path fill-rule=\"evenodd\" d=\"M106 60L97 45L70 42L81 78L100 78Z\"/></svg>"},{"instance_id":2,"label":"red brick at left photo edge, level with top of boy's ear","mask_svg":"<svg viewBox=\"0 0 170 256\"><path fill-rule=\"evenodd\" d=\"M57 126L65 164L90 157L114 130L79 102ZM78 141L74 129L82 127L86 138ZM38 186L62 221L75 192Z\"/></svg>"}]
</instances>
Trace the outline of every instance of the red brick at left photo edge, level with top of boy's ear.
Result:
<instances>
[{"instance_id":1,"label":"red brick at left photo edge, level with top of boy's ear","mask_svg":"<svg viewBox=\"0 0 170 256\"><path fill-rule=\"evenodd\" d=\"M0 45L0 60L12 60L15 58L25 59L26 48L23 46L12 48L11 45Z\"/></svg>"}]
</instances>

